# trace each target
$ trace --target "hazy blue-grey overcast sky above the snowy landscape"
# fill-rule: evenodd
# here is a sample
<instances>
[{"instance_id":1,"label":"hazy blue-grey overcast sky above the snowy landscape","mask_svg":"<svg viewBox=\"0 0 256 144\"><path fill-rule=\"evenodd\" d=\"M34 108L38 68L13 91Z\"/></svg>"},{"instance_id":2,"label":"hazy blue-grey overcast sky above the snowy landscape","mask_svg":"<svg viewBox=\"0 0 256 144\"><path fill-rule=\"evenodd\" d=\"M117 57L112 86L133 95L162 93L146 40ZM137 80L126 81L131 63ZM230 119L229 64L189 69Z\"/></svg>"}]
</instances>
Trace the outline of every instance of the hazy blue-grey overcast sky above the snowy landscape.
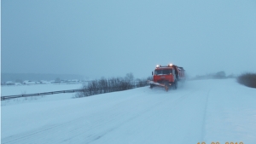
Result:
<instances>
[{"instance_id":1,"label":"hazy blue-grey overcast sky above the snowy landscape","mask_svg":"<svg viewBox=\"0 0 256 144\"><path fill-rule=\"evenodd\" d=\"M256 72L256 1L2 0L2 72Z\"/></svg>"}]
</instances>

